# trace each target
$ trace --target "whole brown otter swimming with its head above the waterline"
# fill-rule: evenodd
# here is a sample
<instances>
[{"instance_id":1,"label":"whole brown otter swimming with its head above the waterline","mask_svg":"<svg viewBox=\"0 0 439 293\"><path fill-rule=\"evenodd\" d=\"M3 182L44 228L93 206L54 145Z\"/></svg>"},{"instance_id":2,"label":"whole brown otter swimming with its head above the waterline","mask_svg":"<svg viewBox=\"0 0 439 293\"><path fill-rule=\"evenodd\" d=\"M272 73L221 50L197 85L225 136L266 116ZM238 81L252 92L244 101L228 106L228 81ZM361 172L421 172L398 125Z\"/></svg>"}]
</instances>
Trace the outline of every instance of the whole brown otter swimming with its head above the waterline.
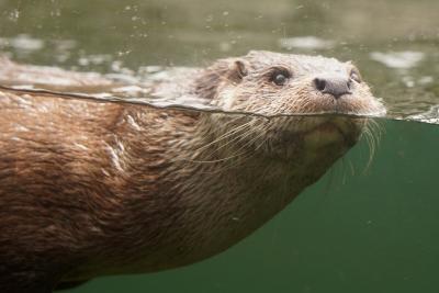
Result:
<instances>
[{"instance_id":1,"label":"whole brown otter swimming with its head above the waterline","mask_svg":"<svg viewBox=\"0 0 439 293\"><path fill-rule=\"evenodd\" d=\"M2 292L47 293L218 253L316 182L367 115L385 113L358 69L334 58L250 52L191 72L153 90L262 116L0 89ZM320 113L330 115L301 115Z\"/></svg>"}]
</instances>

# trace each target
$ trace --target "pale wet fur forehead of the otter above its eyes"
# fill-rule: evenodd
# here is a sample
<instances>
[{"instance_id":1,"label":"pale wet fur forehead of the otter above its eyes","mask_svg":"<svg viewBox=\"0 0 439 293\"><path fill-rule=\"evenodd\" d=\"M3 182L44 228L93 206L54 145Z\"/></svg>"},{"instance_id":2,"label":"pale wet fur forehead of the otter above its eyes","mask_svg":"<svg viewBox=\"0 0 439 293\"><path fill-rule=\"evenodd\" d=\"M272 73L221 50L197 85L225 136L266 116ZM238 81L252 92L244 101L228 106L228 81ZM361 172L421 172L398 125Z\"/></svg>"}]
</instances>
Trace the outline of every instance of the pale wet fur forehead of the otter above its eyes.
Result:
<instances>
[{"instance_id":1,"label":"pale wet fur forehead of the otter above its eyes","mask_svg":"<svg viewBox=\"0 0 439 293\"><path fill-rule=\"evenodd\" d=\"M291 69L296 77L320 72L348 75L350 67L352 67L350 63L341 63L335 58L264 50L251 50L245 56L245 59L249 61L255 71L263 71L268 68L281 66Z\"/></svg>"}]
</instances>

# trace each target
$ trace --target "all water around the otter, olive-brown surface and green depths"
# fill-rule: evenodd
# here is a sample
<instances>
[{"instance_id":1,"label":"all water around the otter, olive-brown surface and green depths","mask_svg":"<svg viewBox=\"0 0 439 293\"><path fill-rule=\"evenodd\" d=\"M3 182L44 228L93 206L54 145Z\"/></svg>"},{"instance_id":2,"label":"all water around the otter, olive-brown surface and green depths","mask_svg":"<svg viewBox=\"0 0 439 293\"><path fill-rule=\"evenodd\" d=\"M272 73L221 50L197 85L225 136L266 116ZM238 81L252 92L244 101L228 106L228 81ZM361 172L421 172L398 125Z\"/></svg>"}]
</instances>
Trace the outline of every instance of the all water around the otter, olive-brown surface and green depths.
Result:
<instances>
[{"instance_id":1,"label":"all water around the otter, olive-brown surface and green depths","mask_svg":"<svg viewBox=\"0 0 439 293\"><path fill-rule=\"evenodd\" d=\"M135 82L251 49L323 55L352 60L387 108L371 162L362 139L225 252L63 292L439 291L438 1L0 0L0 53L22 64Z\"/></svg>"}]
</instances>

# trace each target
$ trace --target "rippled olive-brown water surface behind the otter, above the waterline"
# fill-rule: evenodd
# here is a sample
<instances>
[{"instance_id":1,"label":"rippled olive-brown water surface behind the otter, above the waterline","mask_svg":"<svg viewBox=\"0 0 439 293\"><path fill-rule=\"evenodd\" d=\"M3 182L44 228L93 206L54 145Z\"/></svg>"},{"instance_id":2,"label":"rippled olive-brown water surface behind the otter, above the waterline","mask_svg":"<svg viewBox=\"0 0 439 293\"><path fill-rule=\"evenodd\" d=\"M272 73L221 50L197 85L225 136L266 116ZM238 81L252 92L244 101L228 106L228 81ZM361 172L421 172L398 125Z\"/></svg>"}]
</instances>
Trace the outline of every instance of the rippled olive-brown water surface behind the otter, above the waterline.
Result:
<instances>
[{"instance_id":1,"label":"rippled olive-brown water surface behind the otter, above the waterline","mask_svg":"<svg viewBox=\"0 0 439 293\"><path fill-rule=\"evenodd\" d=\"M334 56L358 65L385 101L387 117L439 123L435 5L3 0L0 48L19 61L98 71L128 83L160 71L151 65L200 67L249 49Z\"/></svg>"}]
</instances>

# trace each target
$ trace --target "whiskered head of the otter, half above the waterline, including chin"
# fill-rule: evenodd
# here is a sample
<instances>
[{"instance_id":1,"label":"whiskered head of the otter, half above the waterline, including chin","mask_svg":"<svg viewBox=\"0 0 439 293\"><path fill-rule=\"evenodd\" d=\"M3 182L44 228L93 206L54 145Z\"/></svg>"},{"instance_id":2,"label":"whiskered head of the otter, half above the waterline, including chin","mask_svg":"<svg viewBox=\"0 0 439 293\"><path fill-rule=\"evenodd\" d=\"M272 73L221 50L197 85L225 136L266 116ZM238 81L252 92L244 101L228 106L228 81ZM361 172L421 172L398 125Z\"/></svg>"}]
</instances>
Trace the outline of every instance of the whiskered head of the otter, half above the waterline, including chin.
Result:
<instances>
[{"instance_id":1,"label":"whiskered head of the otter, half above the waterline, including chin","mask_svg":"<svg viewBox=\"0 0 439 293\"><path fill-rule=\"evenodd\" d=\"M267 116L211 115L211 128L219 137L235 129L227 140L239 135L239 147L281 159L306 157L305 150L338 158L358 140L364 116L385 113L350 61L322 56L250 52L222 59L195 91L222 110Z\"/></svg>"}]
</instances>

